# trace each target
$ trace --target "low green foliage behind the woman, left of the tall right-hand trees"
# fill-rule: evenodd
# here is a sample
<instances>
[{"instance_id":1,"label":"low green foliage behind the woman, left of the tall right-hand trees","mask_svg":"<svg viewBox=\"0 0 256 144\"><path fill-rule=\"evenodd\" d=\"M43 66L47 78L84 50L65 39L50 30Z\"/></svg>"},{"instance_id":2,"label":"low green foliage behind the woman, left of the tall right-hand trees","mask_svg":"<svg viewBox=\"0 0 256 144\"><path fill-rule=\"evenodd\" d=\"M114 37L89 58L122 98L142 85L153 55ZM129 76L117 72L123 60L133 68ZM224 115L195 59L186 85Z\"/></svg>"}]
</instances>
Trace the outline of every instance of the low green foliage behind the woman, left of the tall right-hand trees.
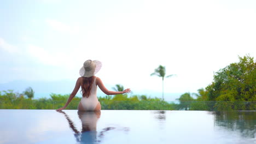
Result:
<instances>
[{"instance_id":1,"label":"low green foliage behind the woman, left of the tall right-hand trees","mask_svg":"<svg viewBox=\"0 0 256 144\"><path fill-rule=\"evenodd\" d=\"M0 109L57 109L65 105L69 94L50 94L51 98L40 98L32 100L20 96L14 91L3 91L0 93ZM133 95L128 97L127 94L118 94L113 97L106 95L99 97L102 110L174 110L176 104L170 104L159 98L150 98L146 95ZM74 97L66 109L77 109L80 98Z\"/></svg>"}]
</instances>

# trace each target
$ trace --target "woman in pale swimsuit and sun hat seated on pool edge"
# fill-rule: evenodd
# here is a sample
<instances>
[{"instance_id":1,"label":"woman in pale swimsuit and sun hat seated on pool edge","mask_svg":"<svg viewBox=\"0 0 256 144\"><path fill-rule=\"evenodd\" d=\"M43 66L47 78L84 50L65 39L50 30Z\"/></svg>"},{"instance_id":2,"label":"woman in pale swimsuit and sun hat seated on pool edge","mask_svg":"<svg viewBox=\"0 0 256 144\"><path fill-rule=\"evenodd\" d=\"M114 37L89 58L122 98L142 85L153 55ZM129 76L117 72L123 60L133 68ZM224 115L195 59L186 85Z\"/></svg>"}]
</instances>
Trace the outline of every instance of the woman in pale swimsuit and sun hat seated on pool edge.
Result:
<instances>
[{"instance_id":1,"label":"woman in pale swimsuit and sun hat seated on pool edge","mask_svg":"<svg viewBox=\"0 0 256 144\"><path fill-rule=\"evenodd\" d=\"M130 88L125 89L122 92L113 92L108 91L108 89L103 85L101 79L99 77L94 76L101 69L100 61L91 61L87 60L84 62L84 66L80 69L79 74L81 77L77 79L75 83L75 87L71 95L69 96L67 103L65 106L57 109L56 111L61 111L66 109L70 101L75 97L79 88L82 88L83 97L78 105L79 111L100 111L101 104L97 98L97 86L100 87L101 91L107 95L114 94L123 94L130 93Z\"/></svg>"}]
</instances>

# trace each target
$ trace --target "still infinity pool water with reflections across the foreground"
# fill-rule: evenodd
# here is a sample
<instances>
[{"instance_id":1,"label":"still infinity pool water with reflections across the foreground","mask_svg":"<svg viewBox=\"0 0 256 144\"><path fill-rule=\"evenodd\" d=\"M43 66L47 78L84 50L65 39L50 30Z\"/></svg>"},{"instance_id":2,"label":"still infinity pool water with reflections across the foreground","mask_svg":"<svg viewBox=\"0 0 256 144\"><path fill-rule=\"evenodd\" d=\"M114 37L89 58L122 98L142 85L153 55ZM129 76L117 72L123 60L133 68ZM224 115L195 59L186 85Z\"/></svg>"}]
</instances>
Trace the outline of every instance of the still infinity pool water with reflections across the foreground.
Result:
<instances>
[{"instance_id":1,"label":"still infinity pool water with reflections across the foreground","mask_svg":"<svg viewBox=\"0 0 256 144\"><path fill-rule=\"evenodd\" d=\"M0 143L255 143L256 111L0 110Z\"/></svg>"}]
</instances>

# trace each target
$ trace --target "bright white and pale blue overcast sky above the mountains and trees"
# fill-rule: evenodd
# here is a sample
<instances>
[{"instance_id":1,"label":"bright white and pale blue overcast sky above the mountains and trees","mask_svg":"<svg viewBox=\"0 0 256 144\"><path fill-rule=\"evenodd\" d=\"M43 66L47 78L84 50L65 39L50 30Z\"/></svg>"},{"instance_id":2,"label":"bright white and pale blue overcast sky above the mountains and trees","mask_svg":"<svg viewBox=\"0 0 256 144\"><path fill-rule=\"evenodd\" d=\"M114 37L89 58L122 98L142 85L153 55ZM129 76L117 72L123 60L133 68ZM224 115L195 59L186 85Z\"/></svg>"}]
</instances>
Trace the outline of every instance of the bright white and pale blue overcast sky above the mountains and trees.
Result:
<instances>
[{"instance_id":1,"label":"bright white and pale blue overcast sky above the mountains and trees","mask_svg":"<svg viewBox=\"0 0 256 144\"><path fill-rule=\"evenodd\" d=\"M96 76L133 91L196 92L213 72L255 56L256 1L0 1L0 83Z\"/></svg>"}]
</instances>

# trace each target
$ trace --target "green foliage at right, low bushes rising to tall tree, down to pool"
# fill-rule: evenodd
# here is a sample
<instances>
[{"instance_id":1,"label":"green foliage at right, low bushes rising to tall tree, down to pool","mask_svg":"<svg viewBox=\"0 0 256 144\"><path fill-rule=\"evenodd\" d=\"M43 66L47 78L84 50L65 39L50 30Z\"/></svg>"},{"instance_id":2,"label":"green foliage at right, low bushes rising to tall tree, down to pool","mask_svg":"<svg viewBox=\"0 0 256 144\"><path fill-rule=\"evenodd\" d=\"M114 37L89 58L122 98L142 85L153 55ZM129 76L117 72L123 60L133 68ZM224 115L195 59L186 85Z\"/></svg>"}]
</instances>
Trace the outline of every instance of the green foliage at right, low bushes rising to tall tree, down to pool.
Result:
<instances>
[{"instance_id":1,"label":"green foliage at right, low bushes rising to tall tree, down to pool","mask_svg":"<svg viewBox=\"0 0 256 144\"><path fill-rule=\"evenodd\" d=\"M238 58L238 63L231 63L215 73L213 82L205 89L198 89L198 94L181 95L180 109L256 110L256 63L248 55Z\"/></svg>"}]
</instances>

